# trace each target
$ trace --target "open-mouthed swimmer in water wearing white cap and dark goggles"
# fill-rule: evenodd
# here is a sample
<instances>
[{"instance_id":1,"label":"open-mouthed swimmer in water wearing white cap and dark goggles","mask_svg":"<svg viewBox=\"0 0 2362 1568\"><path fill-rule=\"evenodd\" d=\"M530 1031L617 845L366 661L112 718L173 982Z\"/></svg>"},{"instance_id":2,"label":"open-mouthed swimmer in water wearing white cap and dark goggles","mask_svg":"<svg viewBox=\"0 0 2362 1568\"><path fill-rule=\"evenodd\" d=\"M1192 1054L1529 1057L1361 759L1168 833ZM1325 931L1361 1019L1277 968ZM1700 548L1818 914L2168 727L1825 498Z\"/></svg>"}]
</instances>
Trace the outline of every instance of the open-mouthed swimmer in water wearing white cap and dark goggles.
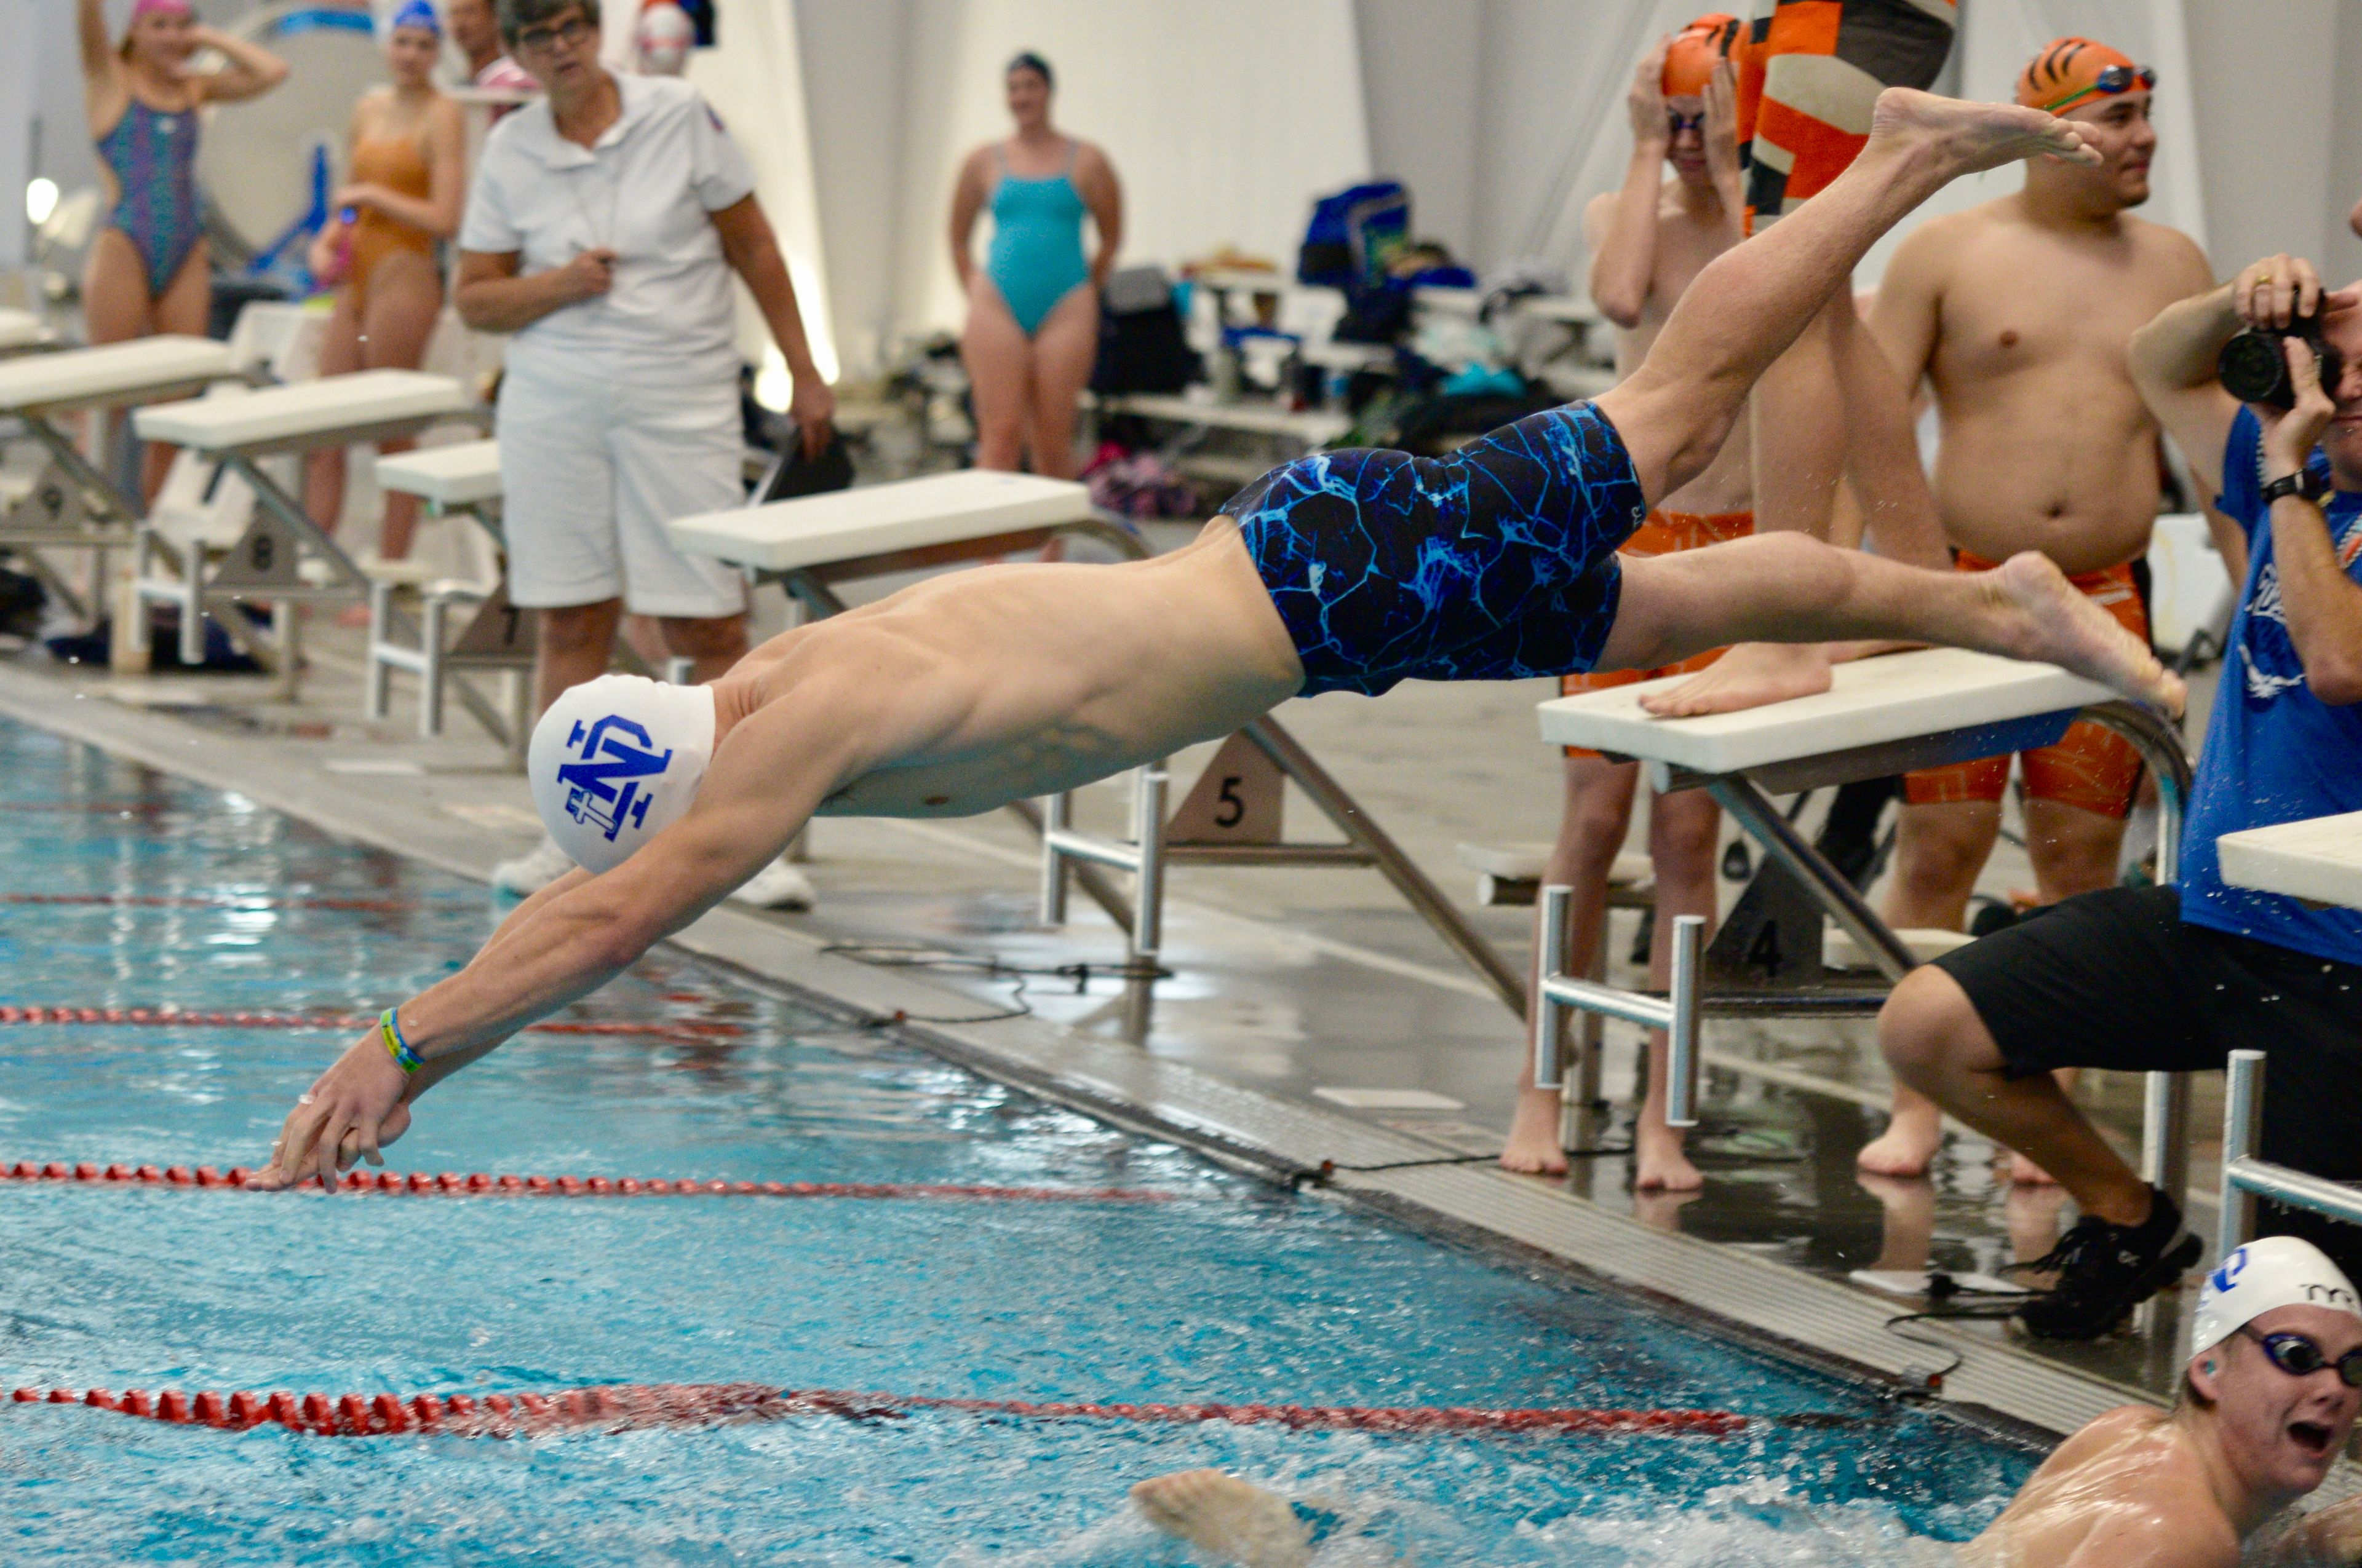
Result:
<instances>
[{"instance_id":1,"label":"open-mouthed swimmer in water wearing white cap and dark goggles","mask_svg":"<svg viewBox=\"0 0 2362 1568\"><path fill-rule=\"evenodd\" d=\"M2173 1410L2123 1405L2060 1443L1960 1547L1960 1568L2353 1563L2362 1500L2305 1518L2289 1509L2329 1476L2357 1412L2355 1287L2310 1242L2249 1242L2206 1278ZM1131 1500L1167 1535L1240 1568L1306 1568L1346 1528L1335 1507L1221 1471L1157 1476Z\"/></svg>"}]
</instances>

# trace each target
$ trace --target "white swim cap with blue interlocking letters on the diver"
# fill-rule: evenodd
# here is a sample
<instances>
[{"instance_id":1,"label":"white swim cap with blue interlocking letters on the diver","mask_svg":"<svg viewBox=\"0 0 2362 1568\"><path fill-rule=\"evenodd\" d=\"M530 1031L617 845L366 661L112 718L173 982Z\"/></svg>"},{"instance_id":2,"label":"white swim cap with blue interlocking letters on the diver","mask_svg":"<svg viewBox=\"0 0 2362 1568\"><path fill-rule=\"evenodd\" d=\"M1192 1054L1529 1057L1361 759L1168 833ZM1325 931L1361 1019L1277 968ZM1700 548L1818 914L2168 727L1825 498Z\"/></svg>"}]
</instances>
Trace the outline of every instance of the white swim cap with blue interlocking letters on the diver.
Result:
<instances>
[{"instance_id":1,"label":"white swim cap with blue interlocking letters on the diver","mask_svg":"<svg viewBox=\"0 0 2362 1568\"><path fill-rule=\"evenodd\" d=\"M713 760L713 687L600 675L534 725L534 810L574 864L612 871L690 810Z\"/></svg>"}]
</instances>

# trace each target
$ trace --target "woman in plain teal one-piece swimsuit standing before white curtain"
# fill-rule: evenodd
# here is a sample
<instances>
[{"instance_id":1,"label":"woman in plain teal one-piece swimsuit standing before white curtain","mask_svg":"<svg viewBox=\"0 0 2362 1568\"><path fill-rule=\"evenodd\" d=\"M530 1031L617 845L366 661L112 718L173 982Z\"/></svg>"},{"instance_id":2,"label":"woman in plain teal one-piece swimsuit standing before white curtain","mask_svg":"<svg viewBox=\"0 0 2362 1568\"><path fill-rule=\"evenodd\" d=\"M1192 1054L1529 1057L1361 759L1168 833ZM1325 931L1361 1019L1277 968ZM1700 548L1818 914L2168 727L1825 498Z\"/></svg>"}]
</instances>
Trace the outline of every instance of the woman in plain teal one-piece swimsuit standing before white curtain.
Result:
<instances>
[{"instance_id":1,"label":"woman in plain teal one-piece swimsuit standing before white curtain","mask_svg":"<svg viewBox=\"0 0 2362 1568\"><path fill-rule=\"evenodd\" d=\"M1051 73L1039 54L1009 61L1018 135L978 146L952 191L952 269L968 298L959 354L976 394L976 465L1075 477L1075 399L1098 354L1098 286L1124 231L1115 165L1049 123ZM985 264L976 220L992 208ZM1082 257L1082 220L1098 253Z\"/></svg>"}]
</instances>

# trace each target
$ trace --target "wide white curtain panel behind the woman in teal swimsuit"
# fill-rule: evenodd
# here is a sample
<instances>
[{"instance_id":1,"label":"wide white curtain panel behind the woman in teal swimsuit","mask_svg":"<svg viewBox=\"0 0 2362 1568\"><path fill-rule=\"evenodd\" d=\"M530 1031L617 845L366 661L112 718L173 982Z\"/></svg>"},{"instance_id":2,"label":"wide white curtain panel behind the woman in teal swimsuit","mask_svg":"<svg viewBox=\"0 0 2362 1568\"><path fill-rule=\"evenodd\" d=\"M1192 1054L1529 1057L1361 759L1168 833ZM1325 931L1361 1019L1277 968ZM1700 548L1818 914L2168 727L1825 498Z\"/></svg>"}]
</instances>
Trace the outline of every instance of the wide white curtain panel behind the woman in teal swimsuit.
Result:
<instances>
[{"instance_id":1,"label":"wide white curtain panel behind the woman in teal swimsuit","mask_svg":"<svg viewBox=\"0 0 2362 1568\"><path fill-rule=\"evenodd\" d=\"M912 328L964 316L952 175L1009 135L1001 66L1018 50L1058 73L1056 123L1115 161L1127 262L1233 243L1292 267L1313 196L1370 172L1351 0L916 0L895 246Z\"/></svg>"}]
</instances>

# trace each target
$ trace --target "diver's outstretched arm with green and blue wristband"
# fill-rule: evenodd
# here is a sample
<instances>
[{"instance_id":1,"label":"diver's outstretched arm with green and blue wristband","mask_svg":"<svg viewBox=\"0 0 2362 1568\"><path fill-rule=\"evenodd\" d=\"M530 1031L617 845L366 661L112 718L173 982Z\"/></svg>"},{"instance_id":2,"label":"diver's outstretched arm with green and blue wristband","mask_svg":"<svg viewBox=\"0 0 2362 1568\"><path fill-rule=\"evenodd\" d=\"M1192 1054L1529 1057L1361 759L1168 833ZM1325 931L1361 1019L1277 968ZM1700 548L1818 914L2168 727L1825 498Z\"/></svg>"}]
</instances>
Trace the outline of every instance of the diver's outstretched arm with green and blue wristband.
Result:
<instances>
[{"instance_id":1,"label":"diver's outstretched arm with green and blue wristband","mask_svg":"<svg viewBox=\"0 0 2362 1568\"><path fill-rule=\"evenodd\" d=\"M876 699L876 666L836 661L735 725L697 803L616 869L572 871L513 914L475 961L397 1008L423 1065L404 1074L378 1030L347 1048L288 1112L250 1185L319 1176L335 1188L357 1159L411 1122L411 1103L510 1034L614 980L779 857L848 779L940 734L942 704ZM924 697L924 694L921 694Z\"/></svg>"}]
</instances>

